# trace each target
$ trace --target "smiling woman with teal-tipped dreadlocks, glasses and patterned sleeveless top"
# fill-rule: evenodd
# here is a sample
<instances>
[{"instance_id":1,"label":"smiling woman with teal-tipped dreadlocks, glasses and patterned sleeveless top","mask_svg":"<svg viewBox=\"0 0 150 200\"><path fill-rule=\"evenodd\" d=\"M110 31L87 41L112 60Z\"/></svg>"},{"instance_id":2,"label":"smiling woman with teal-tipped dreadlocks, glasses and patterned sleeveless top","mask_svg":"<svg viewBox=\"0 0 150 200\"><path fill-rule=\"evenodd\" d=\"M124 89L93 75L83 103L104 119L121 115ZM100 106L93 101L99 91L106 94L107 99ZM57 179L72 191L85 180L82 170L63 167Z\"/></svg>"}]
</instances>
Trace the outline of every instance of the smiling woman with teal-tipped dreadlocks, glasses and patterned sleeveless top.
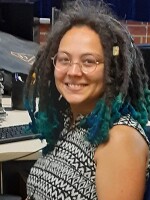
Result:
<instances>
[{"instance_id":1,"label":"smiling woman with teal-tipped dreadlocks, glasses and patterned sleeveless top","mask_svg":"<svg viewBox=\"0 0 150 200\"><path fill-rule=\"evenodd\" d=\"M142 200L149 99L141 53L107 6L67 8L27 81L32 129L48 143L30 171L27 199Z\"/></svg>"}]
</instances>

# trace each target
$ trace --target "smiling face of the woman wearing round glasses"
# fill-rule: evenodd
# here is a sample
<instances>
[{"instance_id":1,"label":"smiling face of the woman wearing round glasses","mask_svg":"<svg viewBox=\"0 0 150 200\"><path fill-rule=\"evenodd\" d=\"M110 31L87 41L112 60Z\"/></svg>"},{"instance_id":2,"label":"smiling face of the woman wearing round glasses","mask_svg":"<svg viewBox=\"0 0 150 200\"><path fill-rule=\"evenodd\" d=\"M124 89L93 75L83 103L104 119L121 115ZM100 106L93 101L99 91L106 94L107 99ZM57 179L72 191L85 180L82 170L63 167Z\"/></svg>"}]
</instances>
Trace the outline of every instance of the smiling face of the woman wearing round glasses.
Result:
<instances>
[{"instance_id":1,"label":"smiling face of the woman wearing round glasses","mask_svg":"<svg viewBox=\"0 0 150 200\"><path fill-rule=\"evenodd\" d=\"M88 114L104 92L104 54L99 35L87 26L73 27L61 39L58 52L73 64L63 71L55 68L56 87L73 112ZM94 71L84 73L81 63L89 64L91 56L98 64ZM60 59L62 62L66 57Z\"/></svg>"}]
</instances>

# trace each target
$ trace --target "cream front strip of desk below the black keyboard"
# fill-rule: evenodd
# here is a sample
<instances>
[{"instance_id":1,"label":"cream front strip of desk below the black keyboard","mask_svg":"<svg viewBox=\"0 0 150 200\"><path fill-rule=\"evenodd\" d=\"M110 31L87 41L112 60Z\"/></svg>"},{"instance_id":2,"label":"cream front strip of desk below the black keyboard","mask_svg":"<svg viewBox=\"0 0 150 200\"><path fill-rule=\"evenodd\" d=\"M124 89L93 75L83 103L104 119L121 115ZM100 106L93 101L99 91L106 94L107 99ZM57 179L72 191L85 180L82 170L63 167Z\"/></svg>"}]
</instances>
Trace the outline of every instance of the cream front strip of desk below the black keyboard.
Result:
<instances>
[{"instance_id":1,"label":"cream front strip of desk below the black keyboard","mask_svg":"<svg viewBox=\"0 0 150 200\"><path fill-rule=\"evenodd\" d=\"M42 155L41 149L47 145L45 140L33 139L0 145L0 161L37 160Z\"/></svg>"}]
</instances>

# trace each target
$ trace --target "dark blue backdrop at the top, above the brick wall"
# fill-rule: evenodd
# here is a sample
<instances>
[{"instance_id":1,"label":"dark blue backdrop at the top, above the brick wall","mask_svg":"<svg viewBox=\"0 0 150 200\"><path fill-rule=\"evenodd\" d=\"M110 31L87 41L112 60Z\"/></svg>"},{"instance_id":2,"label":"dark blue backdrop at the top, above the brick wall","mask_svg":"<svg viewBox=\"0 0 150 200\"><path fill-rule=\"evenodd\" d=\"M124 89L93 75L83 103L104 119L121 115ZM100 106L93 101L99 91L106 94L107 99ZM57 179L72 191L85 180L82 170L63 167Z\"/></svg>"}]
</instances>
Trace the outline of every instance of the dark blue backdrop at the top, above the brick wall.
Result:
<instances>
[{"instance_id":1,"label":"dark blue backdrop at the top, above the brick wall","mask_svg":"<svg viewBox=\"0 0 150 200\"><path fill-rule=\"evenodd\" d=\"M62 8L63 1L39 0L39 16L51 17L51 8ZM99 1L99 0L97 0ZM150 0L104 0L114 12L125 20L150 21Z\"/></svg>"}]
</instances>

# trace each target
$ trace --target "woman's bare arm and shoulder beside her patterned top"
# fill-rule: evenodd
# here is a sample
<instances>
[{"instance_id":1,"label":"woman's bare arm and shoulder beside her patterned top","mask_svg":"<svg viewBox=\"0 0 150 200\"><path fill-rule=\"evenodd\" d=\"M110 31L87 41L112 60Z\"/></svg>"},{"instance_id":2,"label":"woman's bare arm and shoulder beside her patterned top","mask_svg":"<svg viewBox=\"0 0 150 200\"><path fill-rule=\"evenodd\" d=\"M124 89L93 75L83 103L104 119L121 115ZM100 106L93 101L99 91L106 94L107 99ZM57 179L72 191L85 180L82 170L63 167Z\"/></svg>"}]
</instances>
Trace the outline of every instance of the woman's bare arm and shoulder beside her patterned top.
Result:
<instances>
[{"instance_id":1,"label":"woman's bare arm and shoulder beside her patterned top","mask_svg":"<svg viewBox=\"0 0 150 200\"><path fill-rule=\"evenodd\" d=\"M95 152L100 200L143 200L148 146L132 127L117 125Z\"/></svg>"}]
</instances>

